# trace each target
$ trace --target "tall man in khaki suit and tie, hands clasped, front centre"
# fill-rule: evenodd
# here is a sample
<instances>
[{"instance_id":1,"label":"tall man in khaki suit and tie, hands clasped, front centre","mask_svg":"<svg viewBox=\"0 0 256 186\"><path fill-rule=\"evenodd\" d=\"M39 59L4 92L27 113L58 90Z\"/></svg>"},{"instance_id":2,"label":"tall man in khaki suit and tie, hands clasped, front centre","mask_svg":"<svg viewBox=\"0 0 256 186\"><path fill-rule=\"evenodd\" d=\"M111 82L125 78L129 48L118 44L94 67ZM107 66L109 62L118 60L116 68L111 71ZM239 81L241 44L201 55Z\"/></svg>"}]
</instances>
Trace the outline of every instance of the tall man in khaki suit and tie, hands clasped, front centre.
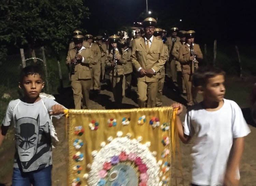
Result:
<instances>
[{"instance_id":1,"label":"tall man in khaki suit and tie, hands clasped, front centre","mask_svg":"<svg viewBox=\"0 0 256 186\"><path fill-rule=\"evenodd\" d=\"M143 21L145 37L135 39L131 61L138 71L138 105L140 108L155 107L158 87L158 72L166 62L163 42L153 35L156 20L148 17ZM148 95L148 97L147 97Z\"/></svg>"}]
</instances>

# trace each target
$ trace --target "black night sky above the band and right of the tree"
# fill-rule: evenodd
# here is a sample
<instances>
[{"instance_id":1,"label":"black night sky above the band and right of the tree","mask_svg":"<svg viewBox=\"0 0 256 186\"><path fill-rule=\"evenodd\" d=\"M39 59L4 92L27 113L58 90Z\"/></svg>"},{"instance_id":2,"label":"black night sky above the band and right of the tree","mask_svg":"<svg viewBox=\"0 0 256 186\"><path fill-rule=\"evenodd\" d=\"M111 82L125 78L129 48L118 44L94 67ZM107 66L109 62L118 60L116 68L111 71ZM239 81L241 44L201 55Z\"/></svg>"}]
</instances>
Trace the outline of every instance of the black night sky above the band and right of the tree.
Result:
<instances>
[{"instance_id":1,"label":"black night sky above the band and right of the tree","mask_svg":"<svg viewBox=\"0 0 256 186\"><path fill-rule=\"evenodd\" d=\"M251 3L250 3L251 2ZM198 43L246 44L253 37L255 7L253 1L225 0L148 0L148 10L156 12L159 27L177 26L195 30ZM86 0L91 13L84 21L88 33L106 29L113 34L123 25L133 26L146 10L146 0ZM155 17L156 18L156 17ZM182 22L179 20L182 19Z\"/></svg>"}]
</instances>

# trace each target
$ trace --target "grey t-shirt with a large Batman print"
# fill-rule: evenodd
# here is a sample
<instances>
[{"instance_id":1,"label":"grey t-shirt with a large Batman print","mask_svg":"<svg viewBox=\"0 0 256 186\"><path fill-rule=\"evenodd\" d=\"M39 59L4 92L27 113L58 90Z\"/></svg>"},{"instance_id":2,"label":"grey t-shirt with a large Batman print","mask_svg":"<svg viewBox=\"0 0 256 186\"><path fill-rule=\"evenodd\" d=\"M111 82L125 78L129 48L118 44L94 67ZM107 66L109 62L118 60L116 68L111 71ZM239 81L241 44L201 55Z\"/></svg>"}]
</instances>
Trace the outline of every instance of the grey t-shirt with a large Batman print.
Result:
<instances>
[{"instance_id":1,"label":"grey t-shirt with a large Batman print","mask_svg":"<svg viewBox=\"0 0 256 186\"><path fill-rule=\"evenodd\" d=\"M30 172L52 165L52 121L48 112L56 104L51 98L41 98L33 104L20 99L9 103L3 125L12 124L15 128L14 168Z\"/></svg>"}]
</instances>

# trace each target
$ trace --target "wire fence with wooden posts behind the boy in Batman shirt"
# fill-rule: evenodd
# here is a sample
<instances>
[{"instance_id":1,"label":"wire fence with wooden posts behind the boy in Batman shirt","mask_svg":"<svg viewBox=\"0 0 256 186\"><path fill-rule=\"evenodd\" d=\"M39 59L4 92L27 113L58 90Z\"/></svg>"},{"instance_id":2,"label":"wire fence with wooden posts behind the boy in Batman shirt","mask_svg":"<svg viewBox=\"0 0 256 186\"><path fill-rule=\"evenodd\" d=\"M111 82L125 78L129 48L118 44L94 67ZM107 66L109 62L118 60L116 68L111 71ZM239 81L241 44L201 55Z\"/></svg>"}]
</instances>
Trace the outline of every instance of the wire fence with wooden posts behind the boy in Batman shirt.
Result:
<instances>
[{"instance_id":1,"label":"wire fence with wooden posts behind the boy in Batman shirt","mask_svg":"<svg viewBox=\"0 0 256 186\"><path fill-rule=\"evenodd\" d=\"M24 52L24 60L20 54L9 55L0 63L0 85L4 89L18 90L19 74L25 66L40 65L44 70L45 88L43 92L55 94L60 86L69 86L68 68L65 64L65 53L62 54L62 59L58 62L56 58L47 55L45 52L45 64L42 49L35 49L33 55L31 52ZM61 79L60 79L61 78ZM2 88L3 89L3 88Z\"/></svg>"}]
</instances>

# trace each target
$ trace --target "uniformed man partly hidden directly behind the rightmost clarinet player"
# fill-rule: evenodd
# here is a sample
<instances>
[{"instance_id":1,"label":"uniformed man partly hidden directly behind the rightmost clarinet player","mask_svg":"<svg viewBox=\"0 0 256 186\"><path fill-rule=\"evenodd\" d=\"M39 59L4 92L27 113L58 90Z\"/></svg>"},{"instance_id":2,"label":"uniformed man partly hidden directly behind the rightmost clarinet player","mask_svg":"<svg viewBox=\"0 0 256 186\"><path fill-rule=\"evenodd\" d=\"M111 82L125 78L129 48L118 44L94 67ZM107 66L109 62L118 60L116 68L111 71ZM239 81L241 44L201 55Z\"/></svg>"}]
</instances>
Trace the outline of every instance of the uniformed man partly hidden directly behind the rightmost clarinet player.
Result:
<instances>
[{"instance_id":1,"label":"uniformed man partly hidden directly behind the rightmost clarinet player","mask_svg":"<svg viewBox=\"0 0 256 186\"><path fill-rule=\"evenodd\" d=\"M186 42L185 34L186 34L186 31L184 30L180 30L178 32L178 35L181 38L181 40L174 43L174 47L172 50L172 56L175 58L175 65L177 69L177 84L179 89L182 91L182 93L186 93L186 88L185 88L184 78L182 76L181 63L179 62L179 56L180 56L180 48L182 45L185 45L185 42Z\"/></svg>"}]
</instances>

